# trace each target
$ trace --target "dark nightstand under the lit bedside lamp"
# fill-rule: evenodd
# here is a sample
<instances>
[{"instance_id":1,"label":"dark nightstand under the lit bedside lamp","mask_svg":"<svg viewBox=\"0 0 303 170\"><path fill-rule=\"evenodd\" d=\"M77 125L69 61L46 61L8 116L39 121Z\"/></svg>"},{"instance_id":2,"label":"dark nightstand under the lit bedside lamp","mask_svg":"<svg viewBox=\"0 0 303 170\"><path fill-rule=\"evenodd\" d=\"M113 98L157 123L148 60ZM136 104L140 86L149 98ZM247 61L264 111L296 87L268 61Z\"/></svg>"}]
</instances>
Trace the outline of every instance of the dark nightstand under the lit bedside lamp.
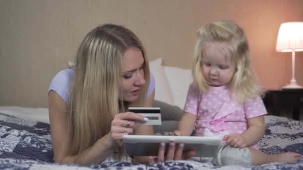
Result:
<instances>
[{"instance_id":1,"label":"dark nightstand under the lit bedside lamp","mask_svg":"<svg viewBox=\"0 0 303 170\"><path fill-rule=\"evenodd\" d=\"M300 119L303 108L303 89L269 90L263 98L267 108L272 108L273 115L280 116L282 109L293 109L293 118Z\"/></svg>"}]
</instances>

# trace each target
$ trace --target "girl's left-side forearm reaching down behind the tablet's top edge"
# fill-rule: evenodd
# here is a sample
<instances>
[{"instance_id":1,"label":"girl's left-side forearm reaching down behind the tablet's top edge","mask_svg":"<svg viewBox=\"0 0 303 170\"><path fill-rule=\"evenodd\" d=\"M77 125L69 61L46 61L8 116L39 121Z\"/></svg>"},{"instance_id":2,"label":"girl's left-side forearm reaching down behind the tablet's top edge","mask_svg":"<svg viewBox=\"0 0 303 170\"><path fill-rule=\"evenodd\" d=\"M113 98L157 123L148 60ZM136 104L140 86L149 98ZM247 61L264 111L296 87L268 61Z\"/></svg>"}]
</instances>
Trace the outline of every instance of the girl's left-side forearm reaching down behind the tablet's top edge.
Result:
<instances>
[{"instance_id":1,"label":"girl's left-side forearm reaching down behind the tablet's top edge","mask_svg":"<svg viewBox=\"0 0 303 170\"><path fill-rule=\"evenodd\" d=\"M177 134L178 132L175 132L175 135L190 136L196 120L196 115L184 112L178 124L178 131L181 132L181 134Z\"/></svg>"}]
</instances>

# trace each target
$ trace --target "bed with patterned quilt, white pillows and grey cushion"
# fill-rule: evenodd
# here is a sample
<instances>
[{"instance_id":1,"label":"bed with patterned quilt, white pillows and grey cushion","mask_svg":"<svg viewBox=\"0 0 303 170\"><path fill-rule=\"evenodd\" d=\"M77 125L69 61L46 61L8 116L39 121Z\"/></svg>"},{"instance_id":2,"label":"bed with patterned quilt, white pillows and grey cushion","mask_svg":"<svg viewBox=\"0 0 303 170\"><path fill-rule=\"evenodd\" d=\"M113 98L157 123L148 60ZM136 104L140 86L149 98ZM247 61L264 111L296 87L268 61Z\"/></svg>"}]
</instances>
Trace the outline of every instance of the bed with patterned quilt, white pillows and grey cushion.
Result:
<instances>
[{"instance_id":1,"label":"bed with patterned quilt, white pillows and grey cushion","mask_svg":"<svg viewBox=\"0 0 303 170\"><path fill-rule=\"evenodd\" d=\"M161 66L161 61L151 62L156 81L156 106L161 107L165 126L158 127L158 135L170 135L180 117L186 89L191 82L190 71ZM177 75L178 78L175 78ZM179 79L183 77L184 79ZM161 94L161 95L159 95ZM164 104L163 104L164 103ZM165 113L162 113L165 112ZM178 114L176 114L179 112ZM303 154L303 121L286 117L265 116L266 132L258 142L267 154L297 152ZM47 108L0 106L0 169L119 169L119 170L167 170L167 169L218 169L218 170L293 170L303 169L303 159L298 164L271 163L256 167L216 167L209 161L171 161L153 165L128 162L110 162L98 165L59 165L53 162L53 152Z\"/></svg>"}]
</instances>

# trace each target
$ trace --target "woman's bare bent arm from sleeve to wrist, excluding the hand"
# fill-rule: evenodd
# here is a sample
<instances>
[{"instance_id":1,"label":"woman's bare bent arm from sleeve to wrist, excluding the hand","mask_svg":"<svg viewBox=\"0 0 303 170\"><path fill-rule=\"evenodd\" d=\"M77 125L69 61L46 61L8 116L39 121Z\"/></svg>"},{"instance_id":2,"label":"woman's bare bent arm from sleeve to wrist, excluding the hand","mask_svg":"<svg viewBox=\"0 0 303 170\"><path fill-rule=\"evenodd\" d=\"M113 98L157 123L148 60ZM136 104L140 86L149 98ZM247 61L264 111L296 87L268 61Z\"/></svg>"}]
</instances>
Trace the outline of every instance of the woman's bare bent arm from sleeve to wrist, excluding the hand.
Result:
<instances>
[{"instance_id":1,"label":"woman's bare bent arm from sleeve to wrist, excluding the hand","mask_svg":"<svg viewBox=\"0 0 303 170\"><path fill-rule=\"evenodd\" d=\"M56 163L96 164L103 162L113 152L109 134L99 139L93 146L79 155L68 156L68 104L54 91L48 95L51 138Z\"/></svg>"}]
</instances>

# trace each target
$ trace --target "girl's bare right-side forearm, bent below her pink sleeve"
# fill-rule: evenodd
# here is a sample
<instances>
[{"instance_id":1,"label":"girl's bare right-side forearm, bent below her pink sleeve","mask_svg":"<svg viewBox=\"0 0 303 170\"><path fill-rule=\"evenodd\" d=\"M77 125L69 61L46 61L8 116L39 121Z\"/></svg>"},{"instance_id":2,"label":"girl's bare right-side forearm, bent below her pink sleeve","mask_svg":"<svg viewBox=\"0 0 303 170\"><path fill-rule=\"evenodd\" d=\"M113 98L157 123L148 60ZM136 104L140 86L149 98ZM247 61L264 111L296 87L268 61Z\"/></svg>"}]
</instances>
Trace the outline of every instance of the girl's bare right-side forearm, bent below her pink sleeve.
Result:
<instances>
[{"instance_id":1,"label":"girl's bare right-side forearm, bent below her pink sleeve","mask_svg":"<svg viewBox=\"0 0 303 170\"><path fill-rule=\"evenodd\" d=\"M246 142L246 146L249 147L261 140L265 134L264 116L247 119L247 126L247 131L242 136Z\"/></svg>"}]
</instances>

